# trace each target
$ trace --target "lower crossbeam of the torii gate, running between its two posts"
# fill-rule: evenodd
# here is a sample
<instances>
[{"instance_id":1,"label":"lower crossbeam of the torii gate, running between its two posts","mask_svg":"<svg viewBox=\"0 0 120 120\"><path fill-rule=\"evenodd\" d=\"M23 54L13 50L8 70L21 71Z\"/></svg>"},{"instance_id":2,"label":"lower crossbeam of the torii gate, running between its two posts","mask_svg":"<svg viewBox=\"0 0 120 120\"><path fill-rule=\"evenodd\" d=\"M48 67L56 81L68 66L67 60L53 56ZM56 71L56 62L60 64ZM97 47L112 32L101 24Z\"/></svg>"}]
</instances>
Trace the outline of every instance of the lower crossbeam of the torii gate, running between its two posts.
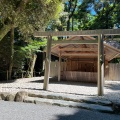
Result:
<instances>
[{"instance_id":1,"label":"lower crossbeam of the torii gate, running between its two posts","mask_svg":"<svg viewBox=\"0 0 120 120\"><path fill-rule=\"evenodd\" d=\"M97 40L63 40L53 41L52 44L97 44Z\"/></svg>"}]
</instances>

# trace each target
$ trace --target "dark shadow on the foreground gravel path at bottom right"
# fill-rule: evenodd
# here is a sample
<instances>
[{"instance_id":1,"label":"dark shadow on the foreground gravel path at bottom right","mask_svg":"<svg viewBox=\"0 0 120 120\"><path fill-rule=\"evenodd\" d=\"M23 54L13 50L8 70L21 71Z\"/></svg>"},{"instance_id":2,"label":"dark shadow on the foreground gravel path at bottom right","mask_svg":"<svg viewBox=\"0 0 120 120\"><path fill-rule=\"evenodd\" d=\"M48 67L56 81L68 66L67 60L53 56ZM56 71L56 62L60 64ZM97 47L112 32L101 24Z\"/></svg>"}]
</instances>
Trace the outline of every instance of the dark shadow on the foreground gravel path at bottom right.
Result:
<instances>
[{"instance_id":1,"label":"dark shadow on the foreground gravel path at bottom right","mask_svg":"<svg viewBox=\"0 0 120 120\"><path fill-rule=\"evenodd\" d=\"M71 115L58 115L56 120L120 120L120 115L78 109Z\"/></svg>"}]
</instances>

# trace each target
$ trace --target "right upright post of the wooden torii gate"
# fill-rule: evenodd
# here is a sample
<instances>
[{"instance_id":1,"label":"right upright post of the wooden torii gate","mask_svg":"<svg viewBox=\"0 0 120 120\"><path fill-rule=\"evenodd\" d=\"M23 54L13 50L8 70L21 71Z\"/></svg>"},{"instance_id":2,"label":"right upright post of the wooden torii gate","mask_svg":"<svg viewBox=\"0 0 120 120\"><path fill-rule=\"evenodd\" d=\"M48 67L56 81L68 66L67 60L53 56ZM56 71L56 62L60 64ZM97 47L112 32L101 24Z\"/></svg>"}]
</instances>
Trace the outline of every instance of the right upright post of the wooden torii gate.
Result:
<instances>
[{"instance_id":1,"label":"right upright post of the wooden torii gate","mask_svg":"<svg viewBox=\"0 0 120 120\"><path fill-rule=\"evenodd\" d=\"M98 36L98 96L104 95L104 44L103 35Z\"/></svg>"}]
</instances>

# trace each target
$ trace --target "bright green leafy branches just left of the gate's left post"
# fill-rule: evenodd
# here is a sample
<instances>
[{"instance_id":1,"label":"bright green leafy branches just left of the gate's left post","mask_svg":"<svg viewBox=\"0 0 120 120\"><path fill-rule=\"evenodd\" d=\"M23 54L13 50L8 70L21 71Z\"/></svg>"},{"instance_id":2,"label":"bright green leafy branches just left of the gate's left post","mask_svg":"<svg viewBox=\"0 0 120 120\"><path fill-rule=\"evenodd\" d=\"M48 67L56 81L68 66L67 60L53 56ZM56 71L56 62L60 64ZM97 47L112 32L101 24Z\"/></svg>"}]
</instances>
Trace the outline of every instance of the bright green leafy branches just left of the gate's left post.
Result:
<instances>
[{"instance_id":1,"label":"bright green leafy branches just left of the gate's left post","mask_svg":"<svg viewBox=\"0 0 120 120\"><path fill-rule=\"evenodd\" d=\"M28 43L23 41L23 46L21 43L15 45L14 53L14 68L20 70L23 69L25 65L25 60L32 59L32 55L36 52L41 52L40 48L46 45L46 40L29 40Z\"/></svg>"}]
</instances>

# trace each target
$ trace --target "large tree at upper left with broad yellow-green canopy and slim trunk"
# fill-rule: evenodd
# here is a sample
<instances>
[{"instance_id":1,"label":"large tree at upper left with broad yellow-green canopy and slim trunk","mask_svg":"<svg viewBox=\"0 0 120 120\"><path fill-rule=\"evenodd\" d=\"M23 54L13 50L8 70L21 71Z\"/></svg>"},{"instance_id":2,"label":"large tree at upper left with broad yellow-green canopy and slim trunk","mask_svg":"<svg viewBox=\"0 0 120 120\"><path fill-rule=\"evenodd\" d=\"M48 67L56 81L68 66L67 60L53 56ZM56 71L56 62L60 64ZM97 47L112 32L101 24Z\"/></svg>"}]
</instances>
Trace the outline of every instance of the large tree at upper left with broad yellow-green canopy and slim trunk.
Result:
<instances>
[{"instance_id":1,"label":"large tree at upper left with broad yellow-green canopy and slim trunk","mask_svg":"<svg viewBox=\"0 0 120 120\"><path fill-rule=\"evenodd\" d=\"M57 17L61 10L61 0L1 0L0 40L11 31L9 79L11 79L14 57L14 29L16 27L28 35L35 30L43 30L49 20Z\"/></svg>"}]
</instances>

